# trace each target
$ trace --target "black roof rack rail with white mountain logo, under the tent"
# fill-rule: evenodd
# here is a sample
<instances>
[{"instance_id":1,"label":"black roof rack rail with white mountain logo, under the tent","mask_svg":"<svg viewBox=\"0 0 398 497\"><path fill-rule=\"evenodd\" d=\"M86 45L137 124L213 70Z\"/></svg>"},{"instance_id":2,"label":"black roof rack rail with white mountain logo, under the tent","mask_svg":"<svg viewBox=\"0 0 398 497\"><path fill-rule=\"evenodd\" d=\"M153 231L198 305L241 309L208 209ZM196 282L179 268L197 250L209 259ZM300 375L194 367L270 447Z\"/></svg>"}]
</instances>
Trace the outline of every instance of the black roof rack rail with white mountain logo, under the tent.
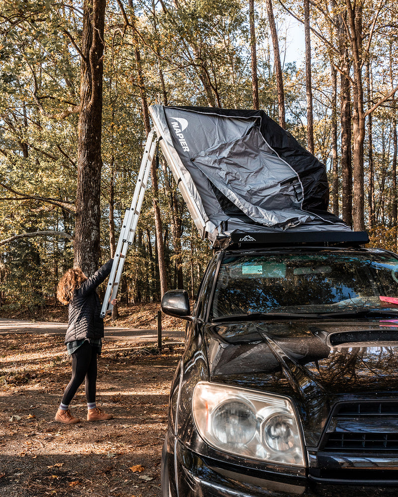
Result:
<instances>
[{"instance_id":1,"label":"black roof rack rail with white mountain logo, under the tent","mask_svg":"<svg viewBox=\"0 0 398 497\"><path fill-rule=\"evenodd\" d=\"M297 231L283 233L231 233L218 235L213 248L260 248L289 245L359 247L369 243L366 231Z\"/></svg>"}]
</instances>

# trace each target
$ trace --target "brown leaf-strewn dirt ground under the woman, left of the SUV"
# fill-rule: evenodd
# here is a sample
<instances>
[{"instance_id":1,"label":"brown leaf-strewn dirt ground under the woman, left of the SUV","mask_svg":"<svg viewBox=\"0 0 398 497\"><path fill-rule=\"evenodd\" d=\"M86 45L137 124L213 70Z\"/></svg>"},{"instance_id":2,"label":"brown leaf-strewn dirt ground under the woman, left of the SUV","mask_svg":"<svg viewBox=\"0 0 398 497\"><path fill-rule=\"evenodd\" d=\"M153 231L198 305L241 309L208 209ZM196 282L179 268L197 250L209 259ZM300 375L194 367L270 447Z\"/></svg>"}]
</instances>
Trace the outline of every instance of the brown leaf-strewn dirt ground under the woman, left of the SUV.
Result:
<instances>
[{"instance_id":1,"label":"brown leaf-strewn dirt ground under the woman, left of the SUV","mask_svg":"<svg viewBox=\"0 0 398 497\"><path fill-rule=\"evenodd\" d=\"M103 344L97 403L113 419L88 422L84 387L75 425L54 421L71 363L62 335L0 341L0 496L158 497L171 380L181 345Z\"/></svg>"}]
</instances>

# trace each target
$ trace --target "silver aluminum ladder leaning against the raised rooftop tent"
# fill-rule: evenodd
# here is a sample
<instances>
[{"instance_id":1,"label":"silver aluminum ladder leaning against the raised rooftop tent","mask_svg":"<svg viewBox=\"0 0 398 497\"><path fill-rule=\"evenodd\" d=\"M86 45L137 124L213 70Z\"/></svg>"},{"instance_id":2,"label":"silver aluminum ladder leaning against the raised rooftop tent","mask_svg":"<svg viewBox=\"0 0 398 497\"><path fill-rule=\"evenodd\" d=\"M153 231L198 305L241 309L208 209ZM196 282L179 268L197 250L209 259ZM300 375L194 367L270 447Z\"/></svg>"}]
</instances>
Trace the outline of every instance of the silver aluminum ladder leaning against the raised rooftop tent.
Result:
<instances>
[{"instance_id":1,"label":"silver aluminum ladder leaning against the raised rooftop tent","mask_svg":"<svg viewBox=\"0 0 398 497\"><path fill-rule=\"evenodd\" d=\"M138 173L137 183L134 189L133 199L130 208L126 209L123 224L120 230L119 240L117 242L116 252L113 257L112 269L110 271L108 284L106 287L105 297L103 299L101 318L113 309L111 300L116 298L117 290L123 271L124 259L130 245L134 241L135 230L137 229L138 217L144 199L144 193L148 182L151 164L155 155L158 138L152 129L145 143L144 155L142 156L141 166Z\"/></svg>"}]
</instances>

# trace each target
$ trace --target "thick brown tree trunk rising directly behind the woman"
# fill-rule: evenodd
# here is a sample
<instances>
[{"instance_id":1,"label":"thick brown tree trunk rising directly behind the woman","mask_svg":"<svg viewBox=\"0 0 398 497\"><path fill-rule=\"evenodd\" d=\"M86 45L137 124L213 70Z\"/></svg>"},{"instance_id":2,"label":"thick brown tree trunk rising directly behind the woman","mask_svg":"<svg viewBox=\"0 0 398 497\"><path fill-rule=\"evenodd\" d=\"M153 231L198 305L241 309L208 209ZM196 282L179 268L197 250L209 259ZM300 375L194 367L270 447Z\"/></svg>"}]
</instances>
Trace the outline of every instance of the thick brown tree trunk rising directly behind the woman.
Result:
<instances>
[{"instance_id":1,"label":"thick brown tree trunk rising directly behind the woman","mask_svg":"<svg viewBox=\"0 0 398 497\"><path fill-rule=\"evenodd\" d=\"M91 276L100 261L102 55L105 0L85 0L78 122L74 265Z\"/></svg>"}]
</instances>

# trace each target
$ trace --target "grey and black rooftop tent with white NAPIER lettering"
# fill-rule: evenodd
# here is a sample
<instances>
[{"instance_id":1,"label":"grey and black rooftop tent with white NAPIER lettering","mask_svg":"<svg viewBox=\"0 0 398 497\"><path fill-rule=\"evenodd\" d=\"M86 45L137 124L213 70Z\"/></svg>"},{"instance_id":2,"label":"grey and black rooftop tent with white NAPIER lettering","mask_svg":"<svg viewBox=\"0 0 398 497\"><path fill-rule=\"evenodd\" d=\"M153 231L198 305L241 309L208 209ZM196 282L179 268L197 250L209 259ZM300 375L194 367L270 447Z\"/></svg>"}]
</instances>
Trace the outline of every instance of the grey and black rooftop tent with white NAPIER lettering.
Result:
<instances>
[{"instance_id":1,"label":"grey and black rooftop tent with white NAPIER lettering","mask_svg":"<svg viewBox=\"0 0 398 497\"><path fill-rule=\"evenodd\" d=\"M325 166L263 111L152 105L150 112L203 236L351 231L327 212Z\"/></svg>"}]
</instances>

